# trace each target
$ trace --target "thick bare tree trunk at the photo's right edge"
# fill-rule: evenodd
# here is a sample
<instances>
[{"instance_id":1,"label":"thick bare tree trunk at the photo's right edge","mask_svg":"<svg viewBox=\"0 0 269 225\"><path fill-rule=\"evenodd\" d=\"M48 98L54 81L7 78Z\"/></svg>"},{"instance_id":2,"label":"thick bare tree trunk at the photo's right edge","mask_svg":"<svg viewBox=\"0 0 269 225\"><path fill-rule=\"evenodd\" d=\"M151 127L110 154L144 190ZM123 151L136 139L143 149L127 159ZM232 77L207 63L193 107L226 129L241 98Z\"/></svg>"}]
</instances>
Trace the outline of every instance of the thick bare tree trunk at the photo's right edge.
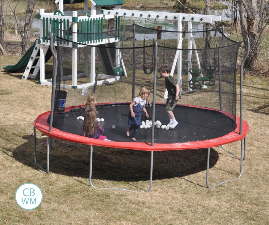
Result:
<instances>
[{"instance_id":1,"label":"thick bare tree trunk at the photo's right edge","mask_svg":"<svg viewBox=\"0 0 269 225\"><path fill-rule=\"evenodd\" d=\"M242 36L250 39L250 53L244 64L245 69L252 69L258 57L261 37L269 22L268 3L268 0L238 0Z\"/></svg>"}]
</instances>

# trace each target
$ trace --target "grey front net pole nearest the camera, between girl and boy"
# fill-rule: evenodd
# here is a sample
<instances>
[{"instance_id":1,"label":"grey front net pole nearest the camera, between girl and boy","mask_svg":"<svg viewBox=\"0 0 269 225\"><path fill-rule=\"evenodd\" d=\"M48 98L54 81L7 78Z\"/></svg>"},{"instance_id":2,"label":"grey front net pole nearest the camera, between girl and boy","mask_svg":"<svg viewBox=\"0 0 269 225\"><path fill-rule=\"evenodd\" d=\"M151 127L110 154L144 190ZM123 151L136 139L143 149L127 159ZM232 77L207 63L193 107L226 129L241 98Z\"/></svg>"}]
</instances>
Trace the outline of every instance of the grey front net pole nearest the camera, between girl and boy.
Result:
<instances>
[{"instance_id":1,"label":"grey front net pole nearest the camera, between girl and boy","mask_svg":"<svg viewBox=\"0 0 269 225\"><path fill-rule=\"evenodd\" d=\"M156 104L156 83L157 83L157 56L158 43L154 46L154 79L153 79L153 97L152 97L152 126L151 126L151 146L154 146L154 130L155 130L155 104Z\"/></svg>"}]
</instances>

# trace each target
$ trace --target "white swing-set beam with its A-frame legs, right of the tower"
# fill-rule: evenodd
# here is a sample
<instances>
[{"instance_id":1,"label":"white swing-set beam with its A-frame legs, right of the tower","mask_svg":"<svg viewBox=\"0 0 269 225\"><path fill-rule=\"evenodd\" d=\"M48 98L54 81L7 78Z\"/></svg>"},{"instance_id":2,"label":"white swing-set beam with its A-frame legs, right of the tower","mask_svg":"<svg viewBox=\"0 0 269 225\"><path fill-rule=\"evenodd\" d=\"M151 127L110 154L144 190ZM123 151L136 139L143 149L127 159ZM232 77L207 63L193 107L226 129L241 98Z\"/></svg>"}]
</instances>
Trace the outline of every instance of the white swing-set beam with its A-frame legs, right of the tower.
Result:
<instances>
[{"instance_id":1,"label":"white swing-set beam with its A-frame legs, right of the tower","mask_svg":"<svg viewBox=\"0 0 269 225\"><path fill-rule=\"evenodd\" d=\"M104 15L115 15L115 16L122 16L131 17L131 18L147 18L147 19L164 19L164 20L173 20L177 21L177 30L182 31L182 24L181 21L188 22L188 31L192 31L192 22L203 22L203 23L212 23L212 21L221 21L221 16L215 15L201 15L201 14L187 14L187 13L169 13L169 12L156 12L156 11L141 11L141 10L127 10L127 9L104 9L102 10ZM193 39L192 33L188 33L188 49L196 49L195 42ZM182 48L182 33L177 34L177 48ZM177 66L177 83L179 85L179 91L182 93L182 51L177 50L174 58L173 65L171 67L170 75L173 76L175 73L175 68ZM188 52L188 59L191 59L192 51ZM196 54L196 52L195 52ZM198 55L197 62L199 64ZM190 62L191 60L189 60ZM190 68L191 65L188 63L188 67ZM188 80L191 79L191 74L188 73ZM188 91L192 91L190 87L188 87ZM164 99L167 99L167 90L165 91Z\"/></svg>"}]
</instances>

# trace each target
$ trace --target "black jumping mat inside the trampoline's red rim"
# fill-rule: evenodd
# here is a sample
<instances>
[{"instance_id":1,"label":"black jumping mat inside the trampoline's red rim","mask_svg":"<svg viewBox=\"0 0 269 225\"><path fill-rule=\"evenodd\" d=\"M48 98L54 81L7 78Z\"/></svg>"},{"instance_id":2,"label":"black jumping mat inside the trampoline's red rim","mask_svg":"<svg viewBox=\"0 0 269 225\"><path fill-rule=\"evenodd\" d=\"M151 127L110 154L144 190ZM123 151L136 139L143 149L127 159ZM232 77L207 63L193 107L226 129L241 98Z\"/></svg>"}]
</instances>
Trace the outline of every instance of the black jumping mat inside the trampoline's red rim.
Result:
<instances>
[{"instance_id":1,"label":"black jumping mat inside the trampoline's red rim","mask_svg":"<svg viewBox=\"0 0 269 225\"><path fill-rule=\"evenodd\" d=\"M98 118L104 118L100 122L104 127L102 135L107 136L112 141L130 142L130 137L126 135L128 125L128 103L116 103L112 105L97 105ZM141 121L151 120L152 107L146 107L149 118L141 112ZM236 123L232 118L216 110L203 109L199 107L189 107L177 105L173 113L178 122L174 129L161 129L155 126L155 143L178 143L209 140L224 136L236 128ZM61 131L83 136L81 130L83 121L77 119L78 116L84 116L84 110L70 111L66 113L55 114L53 118L53 127ZM161 121L162 125L169 123L165 105L156 104L155 121ZM48 120L49 121L49 120ZM112 125L116 128L112 129ZM151 142L151 128L139 129L136 139L138 142Z\"/></svg>"}]
</instances>

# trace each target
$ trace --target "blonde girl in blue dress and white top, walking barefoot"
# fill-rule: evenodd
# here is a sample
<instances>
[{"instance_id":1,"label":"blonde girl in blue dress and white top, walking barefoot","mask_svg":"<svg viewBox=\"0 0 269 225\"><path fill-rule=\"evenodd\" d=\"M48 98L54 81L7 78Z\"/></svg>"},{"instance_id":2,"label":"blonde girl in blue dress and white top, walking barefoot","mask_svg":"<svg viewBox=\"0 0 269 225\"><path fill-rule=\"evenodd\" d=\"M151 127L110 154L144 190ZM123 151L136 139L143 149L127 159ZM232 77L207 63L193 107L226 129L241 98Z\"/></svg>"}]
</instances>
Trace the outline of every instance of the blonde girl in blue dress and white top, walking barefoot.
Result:
<instances>
[{"instance_id":1,"label":"blonde girl in blue dress and white top, walking barefoot","mask_svg":"<svg viewBox=\"0 0 269 225\"><path fill-rule=\"evenodd\" d=\"M137 97L134 98L132 103L130 104L130 112L128 115L128 125L131 125L127 129L127 136L130 136L130 132L133 130L131 135L131 140L137 141L135 139L135 136L139 130L139 126L141 124L141 111L143 110L146 114L146 117L149 118L149 114L147 113L147 110L145 109L145 105L149 104L151 105L149 101L149 94L150 91L148 88L143 87L140 91Z\"/></svg>"}]
</instances>

